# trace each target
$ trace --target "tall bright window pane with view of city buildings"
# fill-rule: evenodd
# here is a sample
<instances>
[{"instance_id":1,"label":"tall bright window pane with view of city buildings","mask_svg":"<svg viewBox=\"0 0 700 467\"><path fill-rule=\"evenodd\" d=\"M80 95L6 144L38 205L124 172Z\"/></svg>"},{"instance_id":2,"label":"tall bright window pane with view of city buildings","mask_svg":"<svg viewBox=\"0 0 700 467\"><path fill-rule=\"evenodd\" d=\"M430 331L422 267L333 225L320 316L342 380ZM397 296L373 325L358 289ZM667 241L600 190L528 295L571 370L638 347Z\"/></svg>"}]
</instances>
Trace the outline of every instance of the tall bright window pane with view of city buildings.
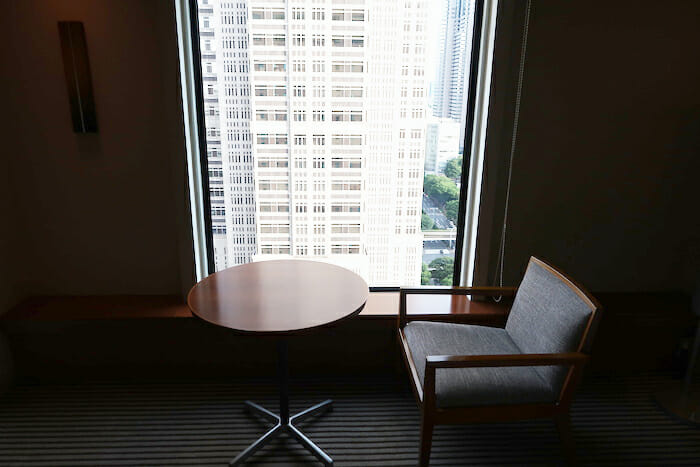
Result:
<instances>
[{"instance_id":1,"label":"tall bright window pane with view of city buildings","mask_svg":"<svg viewBox=\"0 0 700 467\"><path fill-rule=\"evenodd\" d=\"M192 2L213 269L453 283L477 1Z\"/></svg>"}]
</instances>

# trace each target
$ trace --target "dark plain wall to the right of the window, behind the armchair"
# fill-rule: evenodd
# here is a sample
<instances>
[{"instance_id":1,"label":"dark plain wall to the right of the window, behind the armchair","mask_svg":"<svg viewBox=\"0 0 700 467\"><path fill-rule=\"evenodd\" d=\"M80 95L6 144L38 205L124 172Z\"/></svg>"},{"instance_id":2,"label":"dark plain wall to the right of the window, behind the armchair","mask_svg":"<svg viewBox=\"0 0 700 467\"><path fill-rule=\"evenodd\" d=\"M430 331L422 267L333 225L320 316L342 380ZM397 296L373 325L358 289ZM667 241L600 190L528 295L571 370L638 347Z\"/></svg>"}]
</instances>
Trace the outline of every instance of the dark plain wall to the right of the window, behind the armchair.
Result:
<instances>
[{"instance_id":1,"label":"dark plain wall to the right of the window, behind the armchair","mask_svg":"<svg viewBox=\"0 0 700 467\"><path fill-rule=\"evenodd\" d=\"M533 2L505 283L519 282L528 257L541 255L593 290L692 289L699 17L698 2ZM501 138L504 153L510 133ZM487 171L501 191L503 163ZM499 225L496 211L480 227L489 278L496 242L485 239L500 235L487 229Z\"/></svg>"}]
</instances>

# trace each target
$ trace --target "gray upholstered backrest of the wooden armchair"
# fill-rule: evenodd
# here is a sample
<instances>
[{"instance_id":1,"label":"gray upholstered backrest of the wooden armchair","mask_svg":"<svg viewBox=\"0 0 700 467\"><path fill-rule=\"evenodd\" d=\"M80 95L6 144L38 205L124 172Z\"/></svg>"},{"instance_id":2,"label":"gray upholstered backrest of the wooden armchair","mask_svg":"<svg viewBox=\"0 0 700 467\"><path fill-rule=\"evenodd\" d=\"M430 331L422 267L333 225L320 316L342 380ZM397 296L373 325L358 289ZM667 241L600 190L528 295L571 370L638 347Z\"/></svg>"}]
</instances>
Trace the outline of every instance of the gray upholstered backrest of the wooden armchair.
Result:
<instances>
[{"instance_id":1,"label":"gray upholstered backrest of the wooden armchair","mask_svg":"<svg viewBox=\"0 0 700 467\"><path fill-rule=\"evenodd\" d=\"M513 301L506 331L523 353L588 351L597 301L573 280L544 261L530 258ZM568 368L535 367L561 390Z\"/></svg>"}]
</instances>

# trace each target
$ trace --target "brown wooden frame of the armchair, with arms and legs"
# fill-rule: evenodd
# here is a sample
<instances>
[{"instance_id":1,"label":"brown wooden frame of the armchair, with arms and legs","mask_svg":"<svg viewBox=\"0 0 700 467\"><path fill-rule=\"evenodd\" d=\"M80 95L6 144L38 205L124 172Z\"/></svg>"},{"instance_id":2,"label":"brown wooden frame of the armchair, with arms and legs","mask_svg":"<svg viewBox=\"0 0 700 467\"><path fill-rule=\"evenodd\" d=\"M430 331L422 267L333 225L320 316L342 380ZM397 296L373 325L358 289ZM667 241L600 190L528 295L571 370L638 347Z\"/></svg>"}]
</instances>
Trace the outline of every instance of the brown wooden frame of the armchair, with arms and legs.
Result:
<instances>
[{"instance_id":1,"label":"brown wooden frame of the armchair, with arms and legs","mask_svg":"<svg viewBox=\"0 0 700 467\"><path fill-rule=\"evenodd\" d=\"M409 321L425 320L424 316L412 317L406 312L406 297L413 294L431 295L472 295L482 297L514 297L517 289L514 287L417 287L403 288L400 292L398 333L399 341L411 379L411 386L421 410L421 441L419 465L428 466L432 446L433 429L435 425L505 422L536 418L551 418L559 430L565 456L569 464L575 463L574 443L571 436L569 409L574 391L580 381L582 370L588 361L588 353L597 328L602 307L583 287L569 278L566 274L537 259L530 258L530 263L536 263L551 274L554 274L568 285L591 308L585 330L581 336L576 352L560 354L517 354L517 355L429 355L425 361L425 375L421 384L416 370L415 360L406 340L404 327ZM529 266L529 264L528 264ZM442 321L433 315L431 319ZM553 366L566 365L569 372L562 385L556 402L551 404L517 404L497 406L474 406L439 408L435 397L435 371L438 368L477 368L477 367L507 367L507 366Z\"/></svg>"}]
</instances>

